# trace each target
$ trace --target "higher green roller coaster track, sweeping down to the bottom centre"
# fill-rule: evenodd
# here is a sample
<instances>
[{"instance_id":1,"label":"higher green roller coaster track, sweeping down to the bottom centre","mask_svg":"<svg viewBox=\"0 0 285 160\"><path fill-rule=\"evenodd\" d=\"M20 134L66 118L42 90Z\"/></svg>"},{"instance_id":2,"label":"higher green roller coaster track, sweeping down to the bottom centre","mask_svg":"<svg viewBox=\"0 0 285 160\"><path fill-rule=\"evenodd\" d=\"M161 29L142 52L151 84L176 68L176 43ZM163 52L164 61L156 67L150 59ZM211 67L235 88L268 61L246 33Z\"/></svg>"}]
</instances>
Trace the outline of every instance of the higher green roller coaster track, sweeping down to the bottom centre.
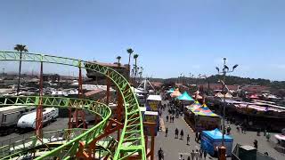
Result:
<instances>
[{"instance_id":1,"label":"higher green roller coaster track, sweeping down to the bottom centre","mask_svg":"<svg viewBox=\"0 0 285 160\"><path fill-rule=\"evenodd\" d=\"M39 53L22 52L21 54L22 61L45 62L77 68L85 68L109 77L110 80L117 86L118 92L121 93L125 107L125 124L121 132L114 159L121 160L134 155L141 156L140 159L142 160L146 159L142 115L139 110L139 104L136 100L134 92L132 91L130 84L127 82L124 76L121 76L116 70L112 68L102 66L95 62L62 58ZM20 52L0 51L0 60L20 60ZM92 139L95 139L95 136L92 137ZM63 147L61 146L60 148L66 148L68 145L70 144L64 144L62 145ZM72 148L72 146L70 146L70 148ZM57 149L58 148L55 148L54 150L58 151ZM52 150L50 153L54 153L54 150Z\"/></svg>"}]
</instances>

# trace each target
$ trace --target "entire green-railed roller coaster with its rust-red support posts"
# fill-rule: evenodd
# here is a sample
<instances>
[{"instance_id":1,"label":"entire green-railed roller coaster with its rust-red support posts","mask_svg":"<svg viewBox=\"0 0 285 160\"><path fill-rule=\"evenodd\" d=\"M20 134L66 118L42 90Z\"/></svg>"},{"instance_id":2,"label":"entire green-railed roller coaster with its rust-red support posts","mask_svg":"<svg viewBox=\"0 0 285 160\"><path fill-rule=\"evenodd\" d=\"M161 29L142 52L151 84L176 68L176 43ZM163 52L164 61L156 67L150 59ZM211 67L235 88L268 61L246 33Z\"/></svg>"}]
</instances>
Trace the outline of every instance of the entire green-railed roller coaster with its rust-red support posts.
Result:
<instances>
[{"instance_id":1,"label":"entire green-railed roller coaster with its rust-red support posts","mask_svg":"<svg viewBox=\"0 0 285 160\"><path fill-rule=\"evenodd\" d=\"M0 51L0 60L29 61L40 63L38 96L10 96L0 98L0 108L25 105L37 107L35 135L28 139L12 141L0 147L0 159L153 159L154 136L151 148L147 148L144 126L155 126L142 122L139 103L126 78L116 70L84 60L75 60L29 52ZM78 98L50 97L43 95L43 63L71 66L79 69ZM84 99L82 94L81 69L93 70L106 76L107 100L102 103ZM110 82L118 94L116 113L108 106ZM69 128L43 132L43 108L69 108ZM72 114L72 111L73 114ZM96 116L93 127L85 127L85 111ZM75 122L76 125L73 125ZM81 127L79 126L81 125ZM83 125L83 127L82 127ZM152 131L152 130L151 130ZM117 139L112 136L117 132ZM53 135L53 138L51 138ZM54 137L54 135L57 135ZM148 152L149 151L149 152Z\"/></svg>"}]
</instances>

